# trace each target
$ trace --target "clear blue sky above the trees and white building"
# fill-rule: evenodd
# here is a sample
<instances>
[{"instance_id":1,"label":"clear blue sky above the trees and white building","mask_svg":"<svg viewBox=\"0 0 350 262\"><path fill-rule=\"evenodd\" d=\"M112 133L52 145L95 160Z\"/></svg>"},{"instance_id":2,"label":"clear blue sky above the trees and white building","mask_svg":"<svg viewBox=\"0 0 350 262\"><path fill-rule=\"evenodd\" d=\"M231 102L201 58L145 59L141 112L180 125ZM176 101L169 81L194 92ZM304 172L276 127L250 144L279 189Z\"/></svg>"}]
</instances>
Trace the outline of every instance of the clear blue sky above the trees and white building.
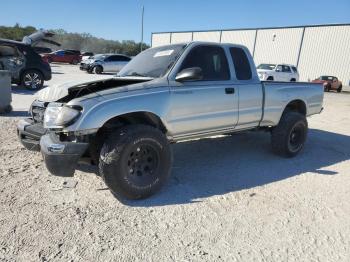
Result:
<instances>
[{"instance_id":1,"label":"clear blue sky above the trees and white building","mask_svg":"<svg viewBox=\"0 0 350 262\"><path fill-rule=\"evenodd\" d=\"M1 0L0 25L141 40L152 32L350 23L350 0Z\"/></svg>"}]
</instances>

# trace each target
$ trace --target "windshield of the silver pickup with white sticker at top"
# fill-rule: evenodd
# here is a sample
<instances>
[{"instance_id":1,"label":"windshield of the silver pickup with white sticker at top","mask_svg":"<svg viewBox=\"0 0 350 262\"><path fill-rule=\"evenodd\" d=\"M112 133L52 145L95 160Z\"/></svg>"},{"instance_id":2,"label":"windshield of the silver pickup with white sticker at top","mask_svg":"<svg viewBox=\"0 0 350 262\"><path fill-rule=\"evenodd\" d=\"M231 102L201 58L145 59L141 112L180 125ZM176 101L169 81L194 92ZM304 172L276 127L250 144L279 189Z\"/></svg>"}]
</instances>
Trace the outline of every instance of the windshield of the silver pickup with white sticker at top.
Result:
<instances>
[{"instance_id":1,"label":"windshield of the silver pickup with white sticker at top","mask_svg":"<svg viewBox=\"0 0 350 262\"><path fill-rule=\"evenodd\" d=\"M180 57L186 45L167 45L150 48L133 58L118 76L164 76Z\"/></svg>"}]
</instances>

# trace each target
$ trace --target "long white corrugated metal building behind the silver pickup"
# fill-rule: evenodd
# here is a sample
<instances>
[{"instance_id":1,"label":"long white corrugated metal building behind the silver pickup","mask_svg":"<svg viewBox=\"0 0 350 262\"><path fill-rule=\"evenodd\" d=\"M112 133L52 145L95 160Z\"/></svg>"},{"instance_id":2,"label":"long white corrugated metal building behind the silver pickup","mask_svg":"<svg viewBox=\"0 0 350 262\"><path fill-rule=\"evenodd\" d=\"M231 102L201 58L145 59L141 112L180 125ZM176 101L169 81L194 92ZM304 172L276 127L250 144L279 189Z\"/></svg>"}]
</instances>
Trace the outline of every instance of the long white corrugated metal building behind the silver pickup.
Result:
<instances>
[{"instance_id":1,"label":"long white corrugated metal building behind the silver pickup","mask_svg":"<svg viewBox=\"0 0 350 262\"><path fill-rule=\"evenodd\" d=\"M192 40L242 44L257 65L293 64L301 81L333 75L350 85L350 24L152 33L152 47Z\"/></svg>"}]
</instances>

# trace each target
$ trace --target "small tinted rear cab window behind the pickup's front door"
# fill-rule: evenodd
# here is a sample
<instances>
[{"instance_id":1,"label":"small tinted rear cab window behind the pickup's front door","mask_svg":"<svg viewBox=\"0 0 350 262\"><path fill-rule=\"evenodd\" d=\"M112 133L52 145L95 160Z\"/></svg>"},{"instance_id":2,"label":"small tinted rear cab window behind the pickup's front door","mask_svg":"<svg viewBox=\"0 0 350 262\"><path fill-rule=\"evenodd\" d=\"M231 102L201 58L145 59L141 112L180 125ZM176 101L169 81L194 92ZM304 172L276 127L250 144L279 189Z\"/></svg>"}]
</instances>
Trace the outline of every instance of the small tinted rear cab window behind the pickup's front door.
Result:
<instances>
[{"instance_id":1,"label":"small tinted rear cab window behind the pickup's front door","mask_svg":"<svg viewBox=\"0 0 350 262\"><path fill-rule=\"evenodd\" d=\"M252 78L252 70L247 54L242 48L231 47L230 53L235 66L237 80L249 80Z\"/></svg>"}]
</instances>

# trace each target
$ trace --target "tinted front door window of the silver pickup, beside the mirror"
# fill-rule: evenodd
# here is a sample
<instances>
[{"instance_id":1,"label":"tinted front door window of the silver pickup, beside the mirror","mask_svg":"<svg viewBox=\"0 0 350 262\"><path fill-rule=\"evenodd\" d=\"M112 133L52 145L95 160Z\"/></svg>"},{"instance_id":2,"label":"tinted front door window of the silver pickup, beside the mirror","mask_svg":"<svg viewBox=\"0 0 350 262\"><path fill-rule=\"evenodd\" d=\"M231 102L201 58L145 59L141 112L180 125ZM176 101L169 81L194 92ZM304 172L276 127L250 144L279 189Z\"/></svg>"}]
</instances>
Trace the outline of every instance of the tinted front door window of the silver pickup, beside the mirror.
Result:
<instances>
[{"instance_id":1,"label":"tinted front door window of the silver pickup, beside the mirror","mask_svg":"<svg viewBox=\"0 0 350 262\"><path fill-rule=\"evenodd\" d=\"M200 67L202 80L229 80L230 73L224 50L219 46L194 47L185 58L181 70Z\"/></svg>"}]
</instances>

